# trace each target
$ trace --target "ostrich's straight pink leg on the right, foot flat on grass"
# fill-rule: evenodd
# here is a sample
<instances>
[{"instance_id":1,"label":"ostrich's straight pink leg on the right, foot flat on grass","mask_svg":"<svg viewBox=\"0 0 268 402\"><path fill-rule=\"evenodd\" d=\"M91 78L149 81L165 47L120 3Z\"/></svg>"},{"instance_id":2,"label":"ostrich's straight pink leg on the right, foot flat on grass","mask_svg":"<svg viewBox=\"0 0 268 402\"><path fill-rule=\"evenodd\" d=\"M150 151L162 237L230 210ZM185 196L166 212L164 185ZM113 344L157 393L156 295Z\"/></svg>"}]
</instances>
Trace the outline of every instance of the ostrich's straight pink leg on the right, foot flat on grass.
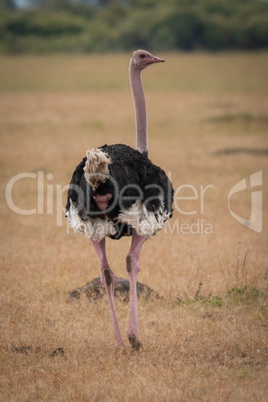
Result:
<instances>
[{"instance_id":1,"label":"ostrich's straight pink leg on the right, foot flat on grass","mask_svg":"<svg viewBox=\"0 0 268 402\"><path fill-rule=\"evenodd\" d=\"M138 308L137 308L137 275L140 270L140 254L146 236L139 236L133 229L132 243L127 255L127 272L130 283L128 339L133 349L142 348L140 341Z\"/></svg>"}]
</instances>

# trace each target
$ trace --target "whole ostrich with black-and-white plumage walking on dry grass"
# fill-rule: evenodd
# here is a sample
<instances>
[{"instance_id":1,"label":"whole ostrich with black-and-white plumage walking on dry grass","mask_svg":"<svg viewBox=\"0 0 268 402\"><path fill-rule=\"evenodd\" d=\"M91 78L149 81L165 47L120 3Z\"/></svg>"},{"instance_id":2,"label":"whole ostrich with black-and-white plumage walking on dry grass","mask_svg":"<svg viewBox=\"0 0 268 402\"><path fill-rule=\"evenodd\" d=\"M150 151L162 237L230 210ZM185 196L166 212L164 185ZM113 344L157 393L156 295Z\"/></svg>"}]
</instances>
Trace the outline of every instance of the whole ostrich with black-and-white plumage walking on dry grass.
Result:
<instances>
[{"instance_id":1,"label":"whole ostrich with black-and-white plumage walking on dry grass","mask_svg":"<svg viewBox=\"0 0 268 402\"><path fill-rule=\"evenodd\" d=\"M129 78L136 115L136 150L123 144L90 149L76 167L68 190L66 217L78 233L90 238L100 260L115 336L115 348L125 349L114 303L114 274L106 256L105 238L132 236L126 257L130 282L127 335L134 350L140 340L136 279L144 242L162 229L172 215L173 189L165 172L148 159L147 117L141 72L164 62L145 50L133 53Z\"/></svg>"}]
</instances>

